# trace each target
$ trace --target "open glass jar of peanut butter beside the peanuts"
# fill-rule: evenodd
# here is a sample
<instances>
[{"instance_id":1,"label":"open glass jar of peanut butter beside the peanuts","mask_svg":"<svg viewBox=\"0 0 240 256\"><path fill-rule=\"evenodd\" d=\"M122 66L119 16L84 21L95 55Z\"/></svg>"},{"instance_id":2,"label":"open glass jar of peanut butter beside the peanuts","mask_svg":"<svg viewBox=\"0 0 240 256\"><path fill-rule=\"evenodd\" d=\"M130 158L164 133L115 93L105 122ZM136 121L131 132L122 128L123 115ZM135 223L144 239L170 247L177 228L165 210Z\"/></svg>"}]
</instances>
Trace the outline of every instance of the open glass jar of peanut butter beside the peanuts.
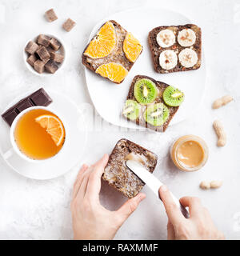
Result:
<instances>
[{"instance_id":1,"label":"open glass jar of peanut butter beside the peanuts","mask_svg":"<svg viewBox=\"0 0 240 256\"><path fill-rule=\"evenodd\" d=\"M174 165L183 171L199 170L206 164L208 147L202 138L185 135L178 138L170 148Z\"/></svg>"}]
</instances>

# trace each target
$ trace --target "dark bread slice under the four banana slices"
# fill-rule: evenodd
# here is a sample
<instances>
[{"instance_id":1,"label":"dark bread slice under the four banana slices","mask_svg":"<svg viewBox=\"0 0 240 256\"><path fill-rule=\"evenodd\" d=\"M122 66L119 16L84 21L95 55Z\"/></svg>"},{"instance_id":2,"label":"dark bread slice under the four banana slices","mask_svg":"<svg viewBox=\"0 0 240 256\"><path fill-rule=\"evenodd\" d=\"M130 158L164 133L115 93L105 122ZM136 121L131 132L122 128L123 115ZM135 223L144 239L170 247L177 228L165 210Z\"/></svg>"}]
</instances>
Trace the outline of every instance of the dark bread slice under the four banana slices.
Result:
<instances>
[{"instance_id":1,"label":"dark bread slice under the four banana slices","mask_svg":"<svg viewBox=\"0 0 240 256\"><path fill-rule=\"evenodd\" d=\"M187 29L187 28L194 30L194 32L196 34L196 42L194 43L193 46L182 47L178 43L178 32L183 29ZM166 29L173 30L174 34L176 35L176 42L174 43L173 46L163 48L158 45L157 34L161 30L166 30ZM178 72L178 71L198 70L198 68L201 66L202 32L201 32L201 28L194 24L186 24L186 25L182 25L182 26L158 26L158 27L155 27L153 30L150 31L150 33L148 35L148 43L150 46L150 51L151 51L153 62L154 62L154 70L156 70L158 73L167 74L167 73ZM175 66L172 70L162 69L162 67L159 64L159 56L162 53L162 51L174 50L177 52L177 55L178 55L181 52L181 50L186 49L186 48L190 48L198 54L198 62L193 67L186 68L186 67L182 66L178 60L177 66Z\"/></svg>"}]
</instances>

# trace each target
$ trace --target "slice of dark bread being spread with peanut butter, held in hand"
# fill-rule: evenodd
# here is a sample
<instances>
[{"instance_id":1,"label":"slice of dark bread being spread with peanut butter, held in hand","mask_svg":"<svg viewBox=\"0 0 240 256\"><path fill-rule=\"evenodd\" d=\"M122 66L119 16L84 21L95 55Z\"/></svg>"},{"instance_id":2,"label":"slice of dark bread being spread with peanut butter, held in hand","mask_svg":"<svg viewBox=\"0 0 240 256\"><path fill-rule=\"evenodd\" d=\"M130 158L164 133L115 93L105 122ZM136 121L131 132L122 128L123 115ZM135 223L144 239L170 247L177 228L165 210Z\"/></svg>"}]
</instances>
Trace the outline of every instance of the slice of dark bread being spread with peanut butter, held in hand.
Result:
<instances>
[{"instance_id":1,"label":"slice of dark bread being spread with peanut butter, held in hand","mask_svg":"<svg viewBox=\"0 0 240 256\"><path fill-rule=\"evenodd\" d=\"M142 190L145 183L126 167L126 159L129 154L137 156L134 159L141 159L141 163L150 173L154 172L158 162L157 155L126 138L122 138L110 154L102 179L126 197L134 198Z\"/></svg>"}]
</instances>

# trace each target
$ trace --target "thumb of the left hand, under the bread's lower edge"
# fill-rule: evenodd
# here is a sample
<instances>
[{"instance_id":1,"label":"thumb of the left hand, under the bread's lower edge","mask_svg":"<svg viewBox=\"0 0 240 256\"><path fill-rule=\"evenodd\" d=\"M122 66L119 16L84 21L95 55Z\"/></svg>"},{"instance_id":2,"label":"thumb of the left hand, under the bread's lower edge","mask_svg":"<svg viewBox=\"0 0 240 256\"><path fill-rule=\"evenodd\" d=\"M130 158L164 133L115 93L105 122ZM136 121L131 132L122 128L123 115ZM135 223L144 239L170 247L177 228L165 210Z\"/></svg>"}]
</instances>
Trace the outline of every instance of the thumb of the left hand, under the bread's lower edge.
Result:
<instances>
[{"instance_id":1,"label":"thumb of the left hand, under the bread's lower edge","mask_svg":"<svg viewBox=\"0 0 240 256\"><path fill-rule=\"evenodd\" d=\"M126 219L138 208L138 205L142 200L146 198L146 194L139 193L134 198L130 198L127 200L117 211L116 214L118 215L118 219L120 222L120 226Z\"/></svg>"}]
</instances>

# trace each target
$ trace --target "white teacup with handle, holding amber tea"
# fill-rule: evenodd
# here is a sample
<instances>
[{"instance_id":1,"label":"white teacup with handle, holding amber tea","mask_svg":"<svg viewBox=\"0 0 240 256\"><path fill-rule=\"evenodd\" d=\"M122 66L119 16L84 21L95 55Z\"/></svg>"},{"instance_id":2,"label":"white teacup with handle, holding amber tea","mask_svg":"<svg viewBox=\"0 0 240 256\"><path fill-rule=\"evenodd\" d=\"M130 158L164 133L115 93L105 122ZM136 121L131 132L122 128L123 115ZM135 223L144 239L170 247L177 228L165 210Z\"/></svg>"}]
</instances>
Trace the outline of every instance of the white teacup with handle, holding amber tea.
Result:
<instances>
[{"instance_id":1,"label":"white teacup with handle, holding amber tea","mask_svg":"<svg viewBox=\"0 0 240 256\"><path fill-rule=\"evenodd\" d=\"M53 158L59 156L59 154L61 154L61 152L64 148L64 145L66 144L66 138L65 138L64 144L62 145L62 149L59 150L58 154L55 154L51 158L36 160L36 159L33 159L33 158L29 158L28 156L26 156L26 154L23 154L22 151L19 150L18 145L17 145L17 143L15 141L15 138L14 138L14 131L15 131L16 125L18 124L18 121L22 118L22 116L24 114L26 114L27 112L30 112L31 110L47 110L47 111L50 111L51 113L55 114L62 121L63 126L65 128L65 135L66 135L66 138L67 138L67 134L66 134L67 131L66 131L65 122L62 119L61 115L59 115L55 110L51 110L49 107L46 107L46 106L31 106L30 108L28 108L26 110L23 110L20 114L18 114L17 118L14 119L14 122L12 123L11 128L10 128L10 142L11 142L12 148L4 154L5 158L10 158L14 153L16 153L16 154L18 154L19 157L26 160L27 162L35 162L36 163L36 162L48 161L50 159L53 159Z\"/></svg>"}]
</instances>

